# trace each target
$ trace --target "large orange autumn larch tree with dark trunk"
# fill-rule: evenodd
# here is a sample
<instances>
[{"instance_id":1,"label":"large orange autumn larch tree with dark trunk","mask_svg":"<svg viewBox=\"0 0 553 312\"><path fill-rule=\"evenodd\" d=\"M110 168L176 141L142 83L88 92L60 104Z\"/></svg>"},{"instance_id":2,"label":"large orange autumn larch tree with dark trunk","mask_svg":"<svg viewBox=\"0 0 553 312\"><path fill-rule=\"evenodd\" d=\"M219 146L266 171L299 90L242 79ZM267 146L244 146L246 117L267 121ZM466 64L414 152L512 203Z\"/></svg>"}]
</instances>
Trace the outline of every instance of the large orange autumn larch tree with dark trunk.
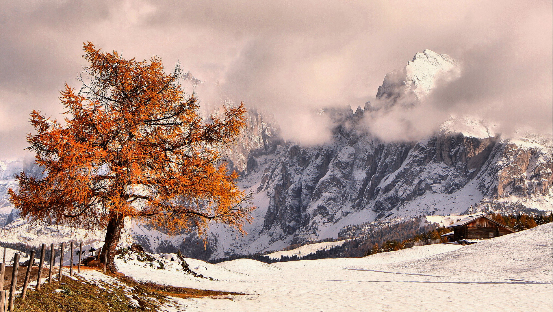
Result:
<instances>
[{"instance_id":1,"label":"large orange autumn larch tree with dark trunk","mask_svg":"<svg viewBox=\"0 0 553 312\"><path fill-rule=\"evenodd\" d=\"M219 152L245 126L244 105L205 120L195 95L182 90L179 66L166 74L159 58L126 60L90 42L84 50L90 65L80 91L61 91L64 123L30 115L36 134L28 134L28 149L44 175L17 176L19 190L9 194L20 215L105 228L111 271L126 217L170 233L202 235L210 222L244 233L255 207Z\"/></svg>"}]
</instances>

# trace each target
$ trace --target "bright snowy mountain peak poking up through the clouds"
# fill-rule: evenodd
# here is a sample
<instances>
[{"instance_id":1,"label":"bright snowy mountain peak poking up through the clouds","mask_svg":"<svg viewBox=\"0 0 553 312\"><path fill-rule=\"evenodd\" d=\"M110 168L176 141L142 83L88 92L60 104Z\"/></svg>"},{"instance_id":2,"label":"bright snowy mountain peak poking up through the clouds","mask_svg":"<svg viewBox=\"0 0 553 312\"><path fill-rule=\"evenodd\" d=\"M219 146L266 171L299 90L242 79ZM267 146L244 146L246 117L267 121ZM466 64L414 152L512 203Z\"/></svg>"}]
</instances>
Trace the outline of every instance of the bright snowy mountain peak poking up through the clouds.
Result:
<instances>
[{"instance_id":1,"label":"bright snowy mountain peak poking up through the clouds","mask_svg":"<svg viewBox=\"0 0 553 312\"><path fill-rule=\"evenodd\" d=\"M426 49L415 54L413 60L403 69L386 74L382 86L378 87L377 100L385 108L396 103L403 106L416 105L429 95L438 80L450 80L458 75L458 63L455 59Z\"/></svg>"}]
</instances>

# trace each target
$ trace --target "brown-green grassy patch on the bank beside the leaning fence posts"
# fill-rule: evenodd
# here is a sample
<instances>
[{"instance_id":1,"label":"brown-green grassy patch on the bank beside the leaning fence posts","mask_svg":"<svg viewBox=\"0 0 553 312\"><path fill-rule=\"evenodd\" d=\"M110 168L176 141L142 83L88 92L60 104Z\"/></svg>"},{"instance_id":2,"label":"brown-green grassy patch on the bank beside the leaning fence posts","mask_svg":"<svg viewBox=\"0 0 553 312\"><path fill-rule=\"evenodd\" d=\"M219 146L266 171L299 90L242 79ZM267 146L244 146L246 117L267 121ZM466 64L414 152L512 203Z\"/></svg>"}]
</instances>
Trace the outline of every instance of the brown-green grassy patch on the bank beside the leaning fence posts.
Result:
<instances>
[{"instance_id":1,"label":"brown-green grassy patch on the bank beside the leaning fence posts","mask_svg":"<svg viewBox=\"0 0 553 312\"><path fill-rule=\"evenodd\" d=\"M103 289L103 288L105 289ZM40 291L29 289L27 297L15 299L16 312L97 312L155 311L167 301L164 295L146 289L93 284L84 278L64 278L63 283L43 284ZM131 297L131 298L129 298ZM134 301L134 302L133 302ZM137 302L138 301L138 302Z\"/></svg>"}]
</instances>

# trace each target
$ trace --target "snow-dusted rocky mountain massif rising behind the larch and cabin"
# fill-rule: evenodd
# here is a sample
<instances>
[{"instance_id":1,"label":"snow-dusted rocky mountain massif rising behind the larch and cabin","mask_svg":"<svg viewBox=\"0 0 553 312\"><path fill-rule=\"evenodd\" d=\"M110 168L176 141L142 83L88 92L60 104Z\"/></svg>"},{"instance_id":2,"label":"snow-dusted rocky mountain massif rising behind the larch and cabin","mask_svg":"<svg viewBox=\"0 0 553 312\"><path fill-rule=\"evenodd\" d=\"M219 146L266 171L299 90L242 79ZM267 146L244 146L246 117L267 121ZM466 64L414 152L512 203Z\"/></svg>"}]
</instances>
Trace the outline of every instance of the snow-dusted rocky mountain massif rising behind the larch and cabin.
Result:
<instances>
[{"instance_id":1,"label":"snow-dusted rocky mountain massif rising behind the larch and cabin","mask_svg":"<svg viewBox=\"0 0 553 312\"><path fill-rule=\"evenodd\" d=\"M391 107L409 110L439 80L455 79L459 72L450 56L430 50L416 54L403 69L386 75L377 105L356 112L321 110L333 122L333 137L310 147L285 141L272 116L250 109L240 143L225 151L258 207L247 236L213 226L204 249L194 233L168 237L137 222L129 227L150 250L181 248L191 257L217 258L336 238L343 227L375 220L458 215L471 205L487 211L553 210L551 137L505 137L469 116L451 117L418 142L384 142L370 133L367 116ZM2 181L14 185L3 170Z\"/></svg>"}]
</instances>

